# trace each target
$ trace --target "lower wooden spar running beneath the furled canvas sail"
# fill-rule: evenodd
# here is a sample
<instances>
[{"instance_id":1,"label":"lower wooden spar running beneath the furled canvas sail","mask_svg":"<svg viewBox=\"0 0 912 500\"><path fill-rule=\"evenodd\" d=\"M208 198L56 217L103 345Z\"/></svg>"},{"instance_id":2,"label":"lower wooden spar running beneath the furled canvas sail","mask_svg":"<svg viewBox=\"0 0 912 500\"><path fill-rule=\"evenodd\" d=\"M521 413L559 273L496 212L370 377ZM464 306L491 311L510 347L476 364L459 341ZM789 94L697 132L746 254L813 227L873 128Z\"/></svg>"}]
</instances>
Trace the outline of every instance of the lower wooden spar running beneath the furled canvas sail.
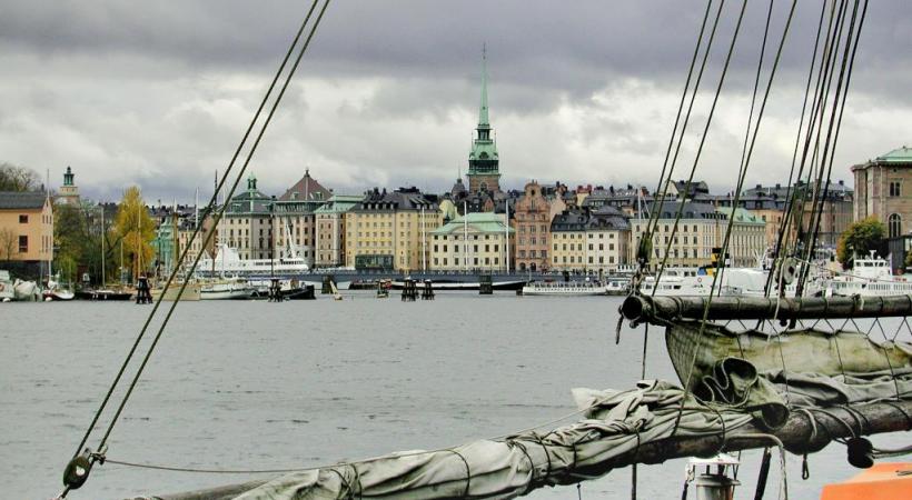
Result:
<instances>
[{"instance_id":1,"label":"lower wooden spar running beneath the furled canvas sail","mask_svg":"<svg viewBox=\"0 0 912 500\"><path fill-rule=\"evenodd\" d=\"M661 463L676 458L708 457L720 451L737 451L773 446L772 440L764 438L762 434L775 436L793 453L805 453L820 451L833 439L849 438L853 433L859 436L876 434L912 429L912 400L832 407L826 408L824 411L812 410L814 422L811 421L811 417L806 412L793 411L785 424L773 432L762 430L754 424L747 424L740 427L728 436L678 436L644 442L614 460L598 463L597 467L575 469L573 474L536 478L536 481L526 492L554 483L574 483L581 477L601 477L613 469L634 463ZM858 428L859 422L864 422L864 429L860 430ZM266 481L260 479L208 490L151 498L157 500L227 500Z\"/></svg>"}]
</instances>

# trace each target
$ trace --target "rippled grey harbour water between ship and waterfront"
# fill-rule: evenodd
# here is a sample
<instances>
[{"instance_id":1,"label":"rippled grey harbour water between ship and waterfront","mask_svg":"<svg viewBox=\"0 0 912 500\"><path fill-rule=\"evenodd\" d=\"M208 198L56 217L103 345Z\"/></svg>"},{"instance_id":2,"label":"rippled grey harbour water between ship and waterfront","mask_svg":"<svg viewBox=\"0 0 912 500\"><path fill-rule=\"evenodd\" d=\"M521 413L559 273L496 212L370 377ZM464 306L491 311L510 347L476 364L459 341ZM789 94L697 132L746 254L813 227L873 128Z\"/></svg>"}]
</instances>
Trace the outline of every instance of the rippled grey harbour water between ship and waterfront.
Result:
<instances>
[{"instance_id":1,"label":"rippled grey harbour water between ship and waterfront","mask_svg":"<svg viewBox=\"0 0 912 500\"><path fill-rule=\"evenodd\" d=\"M438 293L402 302L348 292L337 302L180 303L109 442L108 457L156 464L264 469L329 464L502 436L575 410L575 387L640 379L642 329L614 343L617 298ZM49 499L150 307L0 304L2 499ZM162 314L163 316L163 314ZM655 333L658 329L653 329ZM664 341L647 378L676 381ZM107 424L107 421L102 423ZM98 442L98 432L90 446ZM908 433L875 443L908 443ZM891 444L896 446L896 442ZM817 498L858 471L831 444L789 492ZM745 452L736 498L753 498L759 452ZM640 498L677 499L685 460L640 467ZM775 469L767 498L775 498ZM583 483L583 499L628 498L630 469ZM250 476L96 467L68 498L118 499L241 482ZM575 499L575 487L535 499Z\"/></svg>"}]
</instances>

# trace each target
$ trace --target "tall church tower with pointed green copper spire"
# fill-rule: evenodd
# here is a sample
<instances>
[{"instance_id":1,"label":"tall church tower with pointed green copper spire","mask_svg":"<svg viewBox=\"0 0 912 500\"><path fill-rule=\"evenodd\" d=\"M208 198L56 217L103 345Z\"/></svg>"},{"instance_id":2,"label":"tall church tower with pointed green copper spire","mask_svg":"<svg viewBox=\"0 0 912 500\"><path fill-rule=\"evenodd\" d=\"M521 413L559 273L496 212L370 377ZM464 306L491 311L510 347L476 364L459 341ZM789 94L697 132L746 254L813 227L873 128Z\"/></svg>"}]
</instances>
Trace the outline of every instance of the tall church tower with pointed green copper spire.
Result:
<instances>
[{"instance_id":1,"label":"tall church tower with pointed green copper spire","mask_svg":"<svg viewBox=\"0 0 912 500\"><path fill-rule=\"evenodd\" d=\"M499 157L497 143L492 139L487 112L487 51L482 50L482 106L478 110L476 137L468 153L468 190L470 192L500 190Z\"/></svg>"}]
</instances>

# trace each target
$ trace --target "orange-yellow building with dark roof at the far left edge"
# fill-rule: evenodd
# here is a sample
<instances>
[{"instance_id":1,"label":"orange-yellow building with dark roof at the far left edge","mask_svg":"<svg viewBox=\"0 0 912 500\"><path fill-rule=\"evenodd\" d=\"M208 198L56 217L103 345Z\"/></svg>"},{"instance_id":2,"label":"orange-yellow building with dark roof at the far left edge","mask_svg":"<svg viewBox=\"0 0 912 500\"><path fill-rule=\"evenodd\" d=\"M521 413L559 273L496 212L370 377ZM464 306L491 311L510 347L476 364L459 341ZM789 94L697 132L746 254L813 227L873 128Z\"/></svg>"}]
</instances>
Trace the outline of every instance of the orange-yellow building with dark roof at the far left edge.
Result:
<instances>
[{"instance_id":1,"label":"orange-yellow building with dark roof at the far left edge","mask_svg":"<svg viewBox=\"0 0 912 500\"><path fill-rule=\"evenodd\" d=\"M0 262L48 262L53 257L53 210L42 191L0 191Z\"/></svg>"}]
</instances>

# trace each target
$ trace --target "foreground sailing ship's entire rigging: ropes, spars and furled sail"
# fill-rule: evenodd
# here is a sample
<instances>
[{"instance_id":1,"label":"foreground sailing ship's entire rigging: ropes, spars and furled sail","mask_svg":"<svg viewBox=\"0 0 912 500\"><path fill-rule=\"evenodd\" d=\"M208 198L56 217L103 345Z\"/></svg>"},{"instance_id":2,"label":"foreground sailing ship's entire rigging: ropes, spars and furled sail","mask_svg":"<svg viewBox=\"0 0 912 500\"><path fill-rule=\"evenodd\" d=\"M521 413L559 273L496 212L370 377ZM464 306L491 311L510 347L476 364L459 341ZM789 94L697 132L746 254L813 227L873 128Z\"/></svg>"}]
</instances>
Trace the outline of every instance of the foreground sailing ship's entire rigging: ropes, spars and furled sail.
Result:
<instances>
[{"instance_id":1,"label":"foreground sailing ship's entire rigging: ropes, spars and furled sail","mask_svg":"<svg viewBox=\"0 0 912 500\"><path fill-rule=\"evenodd\" d=\"M319 0L313 2L279 67L216 190L219 192L228 179L260 112L272 99L271 108L256 133L227 199L230 199L237 188L328 3L328 0L321 3L314 22L309 23ZM546 432L539 432L535 428L439 450L391 453L325 467L260 471L277 476L207 491L157 498L513 498L544 486L571 484L598 478L619 467L720 451L779 448L781 451L812 453L832 440L842 440L849 444L850 461L859 464L865 464L872 457L895 452L896 450L878 450L864 440L863 434L912 428L912 347L896 340L901 330L890 339L883 327L880 331L884 332L884 341L875 342L870 331L858 328L855 320L868 318L876 322L884 317L910 316L912 302L909 301L909 296L872 296L863 300L856 297L806 297L811 270L811 266L806 263L814 254L822 200L830 186L842 113L868 10L866 0L827 0L821 3L819 31L813 40L814 53L789 183L791 186L793 181L802 179L805 186L814 186L815 189L803 190L789 198L790 204L780 228L775 258L772 270L766 276L764 293L760 297L727 297L720 293L725 259L720 259L717 270L706 277L710 292L705 296L661 297L656 293L658 287L644 287L651 267L657 269L654 282L661 282L670 254L671 241L663 249L658 241L653 240L656 213L662 211L664 203L677 203L676 220L682 217L681 210L701 163L704 142L737 46L747 2L744 0L732 8L735 13L726 11L724 4L723 0L708 0L706 3L656 190L660 209L650 214L646 230L640 239L638 269L632 279L630 294L618 312L618 341L623 321L644 326L644 342L651 336L645 326L664 329L667 351L681 386L643 380L626 391L578 390L574 394L578 406L575 414L583 418L576 423L551 428ZM767 37L772 38L773 32L770 22L773 2L770 2L742 159L737 169L733 211L737 207L749 172L796 7L797 2L793 0L785 14L773 60L766 60L764 64ZM675 174L682 142L691 126L694 102L711 59L711 48L716 37L721 37L717 28L725 16L736 17L734 31L728 38L712 106L687 172L687 189L683 190L681 200L672 201L667 196L668 186ZM308 26L309 32L306 39L301 39ZM298 51L297 58L286 72L278 94L272 96L276 82L295 50ZM764 69L767 78L761 84ZM215 198L216 194L207 211L214 212L218 223L224 207L216 209ZM807 218L802 217L806 206L811 208ZM727 219L722 256L727 253L731 244L733 220L733 217ZM797 230L792 231L792 228ZM676 230L677 223L672 234ZM211 236L212 232L206 234L204 247L209 243ZM192 238L196 237L197 232ZM178 261L184 261L186 251L185 248ZM188 272L192 272L199 261L197 256ZM177 267L168 278L166 288L172 281L179 281L176 274ZM184 292L185 286L186 279L178 296ZM786 297L790 286L793 291ZM160 303L159 298L150 312L150 319ZM83 449L149 322L140 331L137 344L115 378L65 471L66 489L61 497L66 497L71 489L80 488L88 479L91 468L98 463L131 464L107 456L108 437L177 303L177 300L170 303L166 320L156 332L151 347L145 353L102 439L95 449ZM740 326L740 329L734 324ZM902 324L906 331L912 332L912 327L906 321ZM645 358L643 362L645 379ZM855 450L854 454L852 450ZM769 467L769 458L764 460L767 460ZM635 484L634 482L634 490ZM784 484L782 487L787 494Z\"/></svg>"}]
</instances>

